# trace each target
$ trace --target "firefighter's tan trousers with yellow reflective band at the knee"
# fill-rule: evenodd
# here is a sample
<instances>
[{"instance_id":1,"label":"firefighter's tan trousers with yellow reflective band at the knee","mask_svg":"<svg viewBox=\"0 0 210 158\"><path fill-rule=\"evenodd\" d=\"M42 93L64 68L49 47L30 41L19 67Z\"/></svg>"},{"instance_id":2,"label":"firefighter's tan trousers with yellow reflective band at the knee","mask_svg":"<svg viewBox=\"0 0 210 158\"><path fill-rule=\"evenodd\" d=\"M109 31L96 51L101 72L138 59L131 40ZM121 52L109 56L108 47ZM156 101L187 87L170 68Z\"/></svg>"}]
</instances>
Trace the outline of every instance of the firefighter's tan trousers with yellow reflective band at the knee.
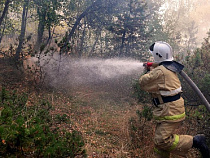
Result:
<instances>
[{"instance_id":1,"label":"firefighter's tan trousers with yellow reflective band at the knee","mask_svg":"<svg viewBox=\"0 0 210 158\"><path fill-rule=\"evenodd\" d=\"M185 157L188 150L192 148L193 136L176 135L181 122L160 122L156 125L154 143L157 158L169 158L170 153Z\"/></svg>"}]
</instances>

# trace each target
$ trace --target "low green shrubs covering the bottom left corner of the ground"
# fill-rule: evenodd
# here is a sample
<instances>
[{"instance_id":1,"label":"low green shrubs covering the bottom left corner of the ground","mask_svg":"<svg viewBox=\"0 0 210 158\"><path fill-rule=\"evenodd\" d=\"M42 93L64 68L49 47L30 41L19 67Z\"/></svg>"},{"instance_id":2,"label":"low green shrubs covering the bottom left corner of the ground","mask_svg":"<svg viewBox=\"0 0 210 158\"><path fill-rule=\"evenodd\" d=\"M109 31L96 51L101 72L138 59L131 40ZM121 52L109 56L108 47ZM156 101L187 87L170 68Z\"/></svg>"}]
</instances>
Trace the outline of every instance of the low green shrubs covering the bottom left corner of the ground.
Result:
<instances>
[{"instance_id":1,"label":"low green shrubs covering the bottom left corner of the ground","mask_svg":"<svg viewBox=\"0 0 210 158\"><path fill-rule=\"evenodd\" d=\"M41 100L28 106L28 96L2 89L0 93L0 155L3 157L86 157L84 141L75 130L71 133L53 126L67 122L67 115L50 115L51 104ZM67 122L68 123L68 122Z\"/></svg>"}]
</instances>

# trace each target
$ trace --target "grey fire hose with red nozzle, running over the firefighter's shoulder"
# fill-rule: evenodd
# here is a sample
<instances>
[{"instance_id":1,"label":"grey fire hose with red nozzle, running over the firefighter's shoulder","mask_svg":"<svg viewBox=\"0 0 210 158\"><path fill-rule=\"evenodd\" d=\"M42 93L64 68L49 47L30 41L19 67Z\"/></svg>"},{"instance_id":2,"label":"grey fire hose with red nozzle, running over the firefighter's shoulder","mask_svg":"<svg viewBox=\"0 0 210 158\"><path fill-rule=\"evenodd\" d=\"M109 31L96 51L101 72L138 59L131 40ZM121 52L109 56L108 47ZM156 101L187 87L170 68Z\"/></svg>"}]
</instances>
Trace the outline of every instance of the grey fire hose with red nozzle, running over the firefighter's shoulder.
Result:
<instances>
[{"instance_id":1,"label":"grey fire hose with red nozzle, running over the firefighter's shoulder","mask_svg":"<svg viewBox=\"0 0 210 158\"><path fill-rule=\"evenodd\" d=\"M205 98L203 93L200 91L200 89L197 87L197 85L190 79L190 77L183 71L184 66L176 61L170 61L170 62L163 62L161 63L164 67L167 69L178 72L184 80L191 86L191 88L194 90L194 92L198 95L198 97L201 99L203 104L205 105L206 109L210 112L210 104L208 100ZM153 65L152 62L144 63L143 66L146 67L147 70Z\"/></svg>"}]
</instances>

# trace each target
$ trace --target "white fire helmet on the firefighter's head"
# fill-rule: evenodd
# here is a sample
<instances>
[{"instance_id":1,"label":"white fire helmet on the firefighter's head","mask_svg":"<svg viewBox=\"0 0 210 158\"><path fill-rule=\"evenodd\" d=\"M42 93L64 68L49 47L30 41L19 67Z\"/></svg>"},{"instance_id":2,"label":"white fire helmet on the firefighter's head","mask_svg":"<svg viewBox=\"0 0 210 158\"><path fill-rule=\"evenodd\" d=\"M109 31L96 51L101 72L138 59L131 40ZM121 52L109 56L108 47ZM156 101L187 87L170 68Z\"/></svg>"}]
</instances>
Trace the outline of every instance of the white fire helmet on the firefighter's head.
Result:
<instances>
[{"instance_id":1,"label":"white fire helmet on the firefighter's head","mask_svg":"<svg viewBox=\"0 0 210 158\"><path fill-rule=\"evenodd\" d=\"M152 53L155 63L161 63L163 61L172 61L173 54L171 46L162 41L157 41L150 46L150 52Z\"/></svg>"}]
</instances>

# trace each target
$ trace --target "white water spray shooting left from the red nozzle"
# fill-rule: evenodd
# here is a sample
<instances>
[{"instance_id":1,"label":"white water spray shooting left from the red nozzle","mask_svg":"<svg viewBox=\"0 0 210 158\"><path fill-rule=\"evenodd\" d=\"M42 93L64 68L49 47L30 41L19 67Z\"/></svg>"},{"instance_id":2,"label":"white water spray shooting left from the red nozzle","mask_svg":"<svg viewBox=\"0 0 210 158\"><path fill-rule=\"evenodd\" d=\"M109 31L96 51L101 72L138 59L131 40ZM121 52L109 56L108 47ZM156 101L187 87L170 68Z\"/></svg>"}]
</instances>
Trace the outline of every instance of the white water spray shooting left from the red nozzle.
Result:
<instances>
[{"instance_id":1,"label":"white water spray shooting left from the red nozzle","mask_svg":"<svg viewBox=\"0 0 210 158\"><path fill-rule=\"evenodd\" d=\"M124 98L132 93L132 84L143 72L143 64L134 59L72 59L50 62L45 67L46 84L68 93L88 91L107 98Z\"/></svg>"}]
</instances>

